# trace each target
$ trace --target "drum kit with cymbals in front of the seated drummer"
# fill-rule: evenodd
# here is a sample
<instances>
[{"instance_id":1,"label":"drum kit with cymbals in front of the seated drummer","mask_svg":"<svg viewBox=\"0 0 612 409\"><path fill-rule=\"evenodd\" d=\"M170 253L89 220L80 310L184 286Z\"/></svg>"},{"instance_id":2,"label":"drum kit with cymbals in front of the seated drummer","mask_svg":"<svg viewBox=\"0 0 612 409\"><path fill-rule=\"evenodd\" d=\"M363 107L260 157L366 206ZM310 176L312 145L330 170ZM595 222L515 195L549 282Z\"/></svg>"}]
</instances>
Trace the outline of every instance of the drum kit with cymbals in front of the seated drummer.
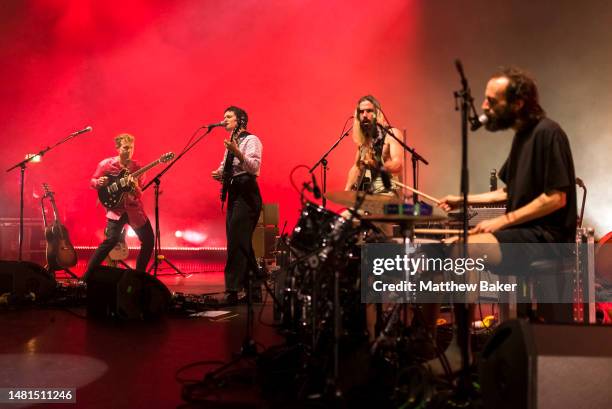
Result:
<instances>
[{"instance_id":1,"label":"drum kit with cymbals in front of the seated drummer","mask_svg":"<svg viewBox=\"0 0 612 409\"><path fill-rule=\"evenodd\" d=\"M333 359L328 368L328 383L333 384L338 379L339 345L347 340L353 344L367 340L360 282L363 245L389 242L391 238L380 228L389 224L400 226L402 240L414 241L415 226L439 224L446 216L363 211L402 205L395 196L336 191L327 193L326 198L349 210L340 215L314 203L304 203L286 240L291 257L283 266L286 274L284 283L280 283L281 319L293 342L302 344L311 356Z\"/></svg>"}]
</instances>

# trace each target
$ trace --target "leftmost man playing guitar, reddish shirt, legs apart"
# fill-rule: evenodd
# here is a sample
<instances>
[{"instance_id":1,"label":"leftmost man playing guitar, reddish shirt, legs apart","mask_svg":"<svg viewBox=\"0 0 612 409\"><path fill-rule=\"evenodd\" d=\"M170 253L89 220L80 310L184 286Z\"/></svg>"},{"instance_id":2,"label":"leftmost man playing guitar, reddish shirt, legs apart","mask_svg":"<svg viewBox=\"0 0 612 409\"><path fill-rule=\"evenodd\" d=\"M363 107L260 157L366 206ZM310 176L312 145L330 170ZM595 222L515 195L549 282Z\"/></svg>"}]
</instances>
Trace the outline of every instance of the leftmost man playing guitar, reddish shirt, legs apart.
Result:
<instances>
[{"instance_id":1,"label":"leftmost man playing guitar, reddish shirt, legs apart","mask_svg":"<svg viewBox=\"0 0 612 409\"><path fill-rule=\"evenodd\" d=\"M109 183L107 175L116 175L123 169L130 173L136 172L141 165L132 160L134 155L134 137L124 133L115 137L115 148L117 156L104 159L98 164L96 171L91 177L90 185L94 189L100 189ZM136 260L136 269L145 271L153 253L155 237L151 222L144 212L141 196L141 186L144 182L144 174L134 179L128 177L133 190L123 195L120 203L106 211L106 239L98 246L87 263L84 280L87 280L92 270L98 267L106 258L108 253L121 239L121 231L125 224L129 224L140 240L140 252Z\"/></svg>"}]
</instances>

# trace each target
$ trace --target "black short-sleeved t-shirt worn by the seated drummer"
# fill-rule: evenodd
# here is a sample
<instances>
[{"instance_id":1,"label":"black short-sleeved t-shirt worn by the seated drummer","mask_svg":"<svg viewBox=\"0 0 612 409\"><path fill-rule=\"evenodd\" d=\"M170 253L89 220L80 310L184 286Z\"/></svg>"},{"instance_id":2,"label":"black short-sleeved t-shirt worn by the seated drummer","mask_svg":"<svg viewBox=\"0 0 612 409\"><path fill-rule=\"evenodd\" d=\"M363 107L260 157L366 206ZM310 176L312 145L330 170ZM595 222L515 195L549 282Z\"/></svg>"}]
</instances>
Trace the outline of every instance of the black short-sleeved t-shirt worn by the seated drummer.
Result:
<instances>
[{"instance_id":1,"label":"black short-sleeved t-shirt worn by the seated drummer","mask_svg":"<svg viewBox=\"0 0 612 409\"><path fill-rule=\"evenodd\" d=\"M525 206L542 193L566 193L565 207L513 227L535 227L544 241L571 242L576 235L576 176L567 135L559 124L542 118L514 136L512 149L499 171L506 184L506 211Z\"/></svg>"}]
</instances>

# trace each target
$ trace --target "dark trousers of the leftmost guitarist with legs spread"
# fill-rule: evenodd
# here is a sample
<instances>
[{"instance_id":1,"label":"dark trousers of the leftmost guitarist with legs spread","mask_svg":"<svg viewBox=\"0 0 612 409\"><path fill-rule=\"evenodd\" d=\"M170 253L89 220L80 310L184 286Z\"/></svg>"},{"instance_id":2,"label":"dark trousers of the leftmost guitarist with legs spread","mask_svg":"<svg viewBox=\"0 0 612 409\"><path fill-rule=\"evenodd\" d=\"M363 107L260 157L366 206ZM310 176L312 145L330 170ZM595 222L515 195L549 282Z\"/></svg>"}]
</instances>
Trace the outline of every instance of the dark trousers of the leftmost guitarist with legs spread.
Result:
<instances>
[{"instance_id":1,"label":"dark trousers of the leftmost guitarist with legs spread","mask_svg":"<svg viewBox=\"0 0 612 409\"><path fill-rule=\"evenodd\" d=\"M96 251L94 251L89 259L89 262L87 263L87 270L85 271L85 275L83 277L84 280L87 280L93 269L102 264L106 256L108 256L108 253L110 253L110 251L119 242L121 239L121 231L127 222L127 213L124 213L119 220L106 219L106 239L98 246ZM155 242L151 222L147 220L144 225L134 229L134 232L140 240L140 252L138 253L138 258L136 259L136 270L145 271L147 269L147 264L149 264L149 260L151 259L153 245Z\"/></svg>"}]
</instances>

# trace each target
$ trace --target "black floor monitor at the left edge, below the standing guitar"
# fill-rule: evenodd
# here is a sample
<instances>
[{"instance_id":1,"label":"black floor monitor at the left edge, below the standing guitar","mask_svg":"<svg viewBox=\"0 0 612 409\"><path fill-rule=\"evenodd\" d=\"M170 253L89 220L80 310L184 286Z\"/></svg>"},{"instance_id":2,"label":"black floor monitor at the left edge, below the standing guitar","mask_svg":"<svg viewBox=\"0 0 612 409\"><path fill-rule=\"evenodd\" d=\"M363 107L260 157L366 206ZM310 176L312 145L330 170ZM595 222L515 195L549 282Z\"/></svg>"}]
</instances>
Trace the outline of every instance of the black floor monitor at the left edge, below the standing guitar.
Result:
<instances>
[{"instance_id":1,"label":"black floor monitor at the left edge, below the standing guitar","mask_svg":"<svg viewBox=\"0 0 612 409\"><path fill-rule=\"evenodd\" d=\"M36 300L45 300L55 287L55 275L36 263L0 260L0 294L22 297L33 293Z\"/></svg>"}]
</instances>

